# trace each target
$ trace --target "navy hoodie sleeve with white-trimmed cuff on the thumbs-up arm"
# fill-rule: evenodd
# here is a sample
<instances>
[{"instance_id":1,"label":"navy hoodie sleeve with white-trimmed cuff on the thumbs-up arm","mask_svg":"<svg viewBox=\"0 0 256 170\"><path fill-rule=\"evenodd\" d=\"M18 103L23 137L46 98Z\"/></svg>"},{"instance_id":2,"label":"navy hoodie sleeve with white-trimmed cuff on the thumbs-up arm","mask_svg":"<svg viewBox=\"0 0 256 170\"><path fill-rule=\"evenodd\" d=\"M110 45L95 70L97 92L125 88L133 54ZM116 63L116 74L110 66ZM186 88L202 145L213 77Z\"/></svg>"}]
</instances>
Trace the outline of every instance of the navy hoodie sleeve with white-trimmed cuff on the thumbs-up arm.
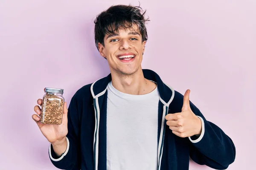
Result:
<instances>
[{"instance_id":1,"label":"navy hoodie sleeve with white-trimmed cuff on the thumbs-up arm","mask_svg":"<svg viewBox=\"0 0 256 170\"><path fill-rule=\"evenodd\" d=\"M190 108L202 123L201 135L189 137L191 159L214 169L227 169L236 157L233 141L220 127L207 121L192 102L190 102Z\"/></svg>"}]
</instances>

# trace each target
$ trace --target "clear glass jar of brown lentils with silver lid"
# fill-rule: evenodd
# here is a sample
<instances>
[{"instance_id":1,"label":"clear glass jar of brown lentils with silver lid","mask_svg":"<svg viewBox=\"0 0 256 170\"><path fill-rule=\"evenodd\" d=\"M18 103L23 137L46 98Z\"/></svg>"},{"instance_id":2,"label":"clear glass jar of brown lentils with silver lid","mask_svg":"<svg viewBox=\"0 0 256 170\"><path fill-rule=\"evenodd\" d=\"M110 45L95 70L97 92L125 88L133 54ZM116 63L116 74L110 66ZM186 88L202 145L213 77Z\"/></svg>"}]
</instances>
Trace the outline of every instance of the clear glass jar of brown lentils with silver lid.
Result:
<instances>
[{"instance_id":1,"label":"clear glass jar of brown lentils with silver lid","mask_svg":"<svg viewBox=\"0 0 256 170\"><path fill-rule=\"evenodd\" d=\"M63 89L45 88L41 109L41 123L60 125L64 108Z\"/></svg>"}]
</instances>

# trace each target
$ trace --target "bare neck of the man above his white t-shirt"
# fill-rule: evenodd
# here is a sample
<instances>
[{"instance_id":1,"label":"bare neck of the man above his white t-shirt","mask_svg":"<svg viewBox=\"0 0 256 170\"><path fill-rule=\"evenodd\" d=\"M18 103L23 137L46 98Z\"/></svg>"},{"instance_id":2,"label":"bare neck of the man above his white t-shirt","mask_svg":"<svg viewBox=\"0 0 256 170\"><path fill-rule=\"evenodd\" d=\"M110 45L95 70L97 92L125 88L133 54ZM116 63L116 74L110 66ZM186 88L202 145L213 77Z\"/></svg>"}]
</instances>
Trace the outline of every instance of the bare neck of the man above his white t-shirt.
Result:
<instances>
[{"instance_id":1,"label":"bare neck of the man above his white t-shirt","mask_svg":"<svg viewBox=\"0 0 256 170\"><path fill-rule=\"evenodd\" d=\"M112 85L125 94L143 95L156 88L154 82L144 78L142 69L131 75L111 73Z\"/></svg>"}]
</instances>

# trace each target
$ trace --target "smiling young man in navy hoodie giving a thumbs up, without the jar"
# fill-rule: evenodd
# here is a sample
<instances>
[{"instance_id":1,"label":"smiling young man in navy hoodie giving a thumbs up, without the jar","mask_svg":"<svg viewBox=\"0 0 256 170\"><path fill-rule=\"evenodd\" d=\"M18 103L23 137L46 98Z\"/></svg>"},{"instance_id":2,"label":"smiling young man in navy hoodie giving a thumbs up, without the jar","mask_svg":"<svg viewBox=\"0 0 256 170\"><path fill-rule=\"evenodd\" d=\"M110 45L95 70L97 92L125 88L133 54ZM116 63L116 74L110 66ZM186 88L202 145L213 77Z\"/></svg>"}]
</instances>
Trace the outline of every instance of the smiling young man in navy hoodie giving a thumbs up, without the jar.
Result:
<instances>
[{"instance_id":1,"label":"smiling young man in navy hoodie giving a thumbs up, without the jar","mask_svg":"<svg viewBox=\"0 0 256 170\"><path fill-rule=\"evenodd\" d=\"M147 31L140 7L112 6L95 20L95 42L111 74L85 85L64 104L61 125L32 118L50 142L52 163L66 170L226 169L232 140L184 96L141 62ZM42 100L38 99L38 105Z\"/></svg>"}]
</instances>

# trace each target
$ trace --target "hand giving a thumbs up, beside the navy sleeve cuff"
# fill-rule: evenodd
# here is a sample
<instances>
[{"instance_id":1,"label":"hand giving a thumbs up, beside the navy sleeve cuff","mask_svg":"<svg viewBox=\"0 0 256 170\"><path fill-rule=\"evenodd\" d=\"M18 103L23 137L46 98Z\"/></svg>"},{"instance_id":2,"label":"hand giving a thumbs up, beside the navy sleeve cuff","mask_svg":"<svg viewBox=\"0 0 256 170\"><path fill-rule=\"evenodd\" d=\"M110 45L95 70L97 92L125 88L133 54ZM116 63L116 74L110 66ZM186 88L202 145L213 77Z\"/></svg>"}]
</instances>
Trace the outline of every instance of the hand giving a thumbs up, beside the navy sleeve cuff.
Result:
<instances>
[{"instance_id":1,"label":"hand giving a thumbs up, beside the navy sleeve cuff","mask_svg":"<svg viewBox=\"0 0 256 170\"><path fill-rule=\"evenodd\" d=\"M202 130L201 120L192 112L189 105L189 93L187 90L183 98L183 107L180 113L166 115L166 125L177 136L182 138L200 135Z\"/></svg>"}]
</instances>

